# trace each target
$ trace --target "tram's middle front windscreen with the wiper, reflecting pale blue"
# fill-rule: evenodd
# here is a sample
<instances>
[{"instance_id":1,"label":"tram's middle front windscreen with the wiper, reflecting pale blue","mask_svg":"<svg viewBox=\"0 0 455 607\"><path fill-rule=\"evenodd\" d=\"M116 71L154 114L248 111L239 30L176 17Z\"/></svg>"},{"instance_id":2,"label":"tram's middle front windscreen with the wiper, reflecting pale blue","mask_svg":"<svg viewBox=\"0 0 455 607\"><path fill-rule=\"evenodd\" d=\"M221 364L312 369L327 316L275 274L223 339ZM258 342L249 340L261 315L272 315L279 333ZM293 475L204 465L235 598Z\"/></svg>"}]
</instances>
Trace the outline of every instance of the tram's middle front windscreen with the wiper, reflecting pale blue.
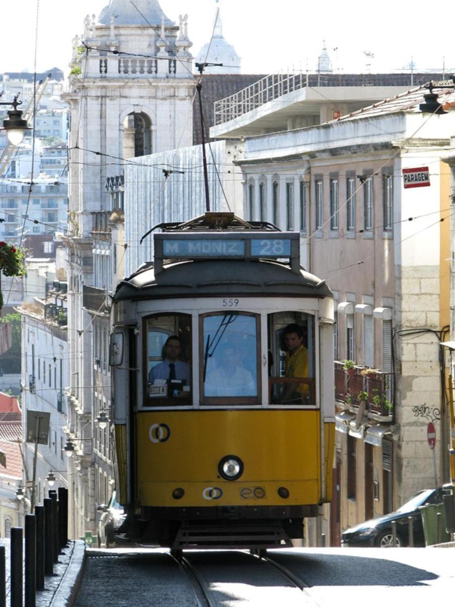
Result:
<instances>
[{"instance_id":1,"label":"tram's middle front windscreen with the wiper, reflecting pale blue","mask_svg":"<svg viewBox=\"0 0 455 607\"><path fill-rule=\"evenodd\" d=\"M257 404L259 319L255 314L201 317L201 394L207 404Z\"/></svg>"}]
</instances>

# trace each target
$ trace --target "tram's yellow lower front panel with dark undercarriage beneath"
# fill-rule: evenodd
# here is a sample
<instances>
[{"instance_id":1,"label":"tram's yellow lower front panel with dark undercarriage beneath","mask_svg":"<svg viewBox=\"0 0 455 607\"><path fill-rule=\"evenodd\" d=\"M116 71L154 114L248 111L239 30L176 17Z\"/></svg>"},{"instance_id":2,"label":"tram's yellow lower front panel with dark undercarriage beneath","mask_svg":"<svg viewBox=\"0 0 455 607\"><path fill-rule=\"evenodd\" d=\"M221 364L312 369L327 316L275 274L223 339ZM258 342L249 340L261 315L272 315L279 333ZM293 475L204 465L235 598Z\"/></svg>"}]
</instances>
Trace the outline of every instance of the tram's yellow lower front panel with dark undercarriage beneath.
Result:
<instances>
[{"instance_id":1,"label":"tram's yellow lower front panel with dark undercarriage beneath","mask_svg":"<svg viewBox=\"0 0 455 607\"><path fill-rule=\"evenodd\" d=\"M334 424L321 430L318 410L140 412L135 436L141 543L286 546L303 537L303 519L331 499ZM126 427L117 426L118 452L125 438ZM241 462L236 480L220 472L229 456ZM118 476L122 500L126 459L118 460Z\"/></svg>"}]
</instances>

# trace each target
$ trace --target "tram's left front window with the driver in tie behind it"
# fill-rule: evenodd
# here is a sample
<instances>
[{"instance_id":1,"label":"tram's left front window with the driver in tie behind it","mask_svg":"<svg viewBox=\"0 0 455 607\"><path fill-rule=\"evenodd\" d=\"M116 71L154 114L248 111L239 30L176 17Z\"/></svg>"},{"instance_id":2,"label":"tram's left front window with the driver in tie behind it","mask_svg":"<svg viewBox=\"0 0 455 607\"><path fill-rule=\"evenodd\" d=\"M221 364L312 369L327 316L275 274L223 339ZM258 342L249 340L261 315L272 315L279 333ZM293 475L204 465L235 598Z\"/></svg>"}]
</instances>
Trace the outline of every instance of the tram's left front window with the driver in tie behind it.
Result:
<instances>
[{"instance_id":1,"label":"tram's left front window with the driver in tie behind it","mask_svg":"<svg viewBox=\"0 0 455 607\"><path fill-rule=\"evenodd\" d=\"M144 323L145 404L191 404L191 316L155 314Z\"/></svg>"}]
</instances>

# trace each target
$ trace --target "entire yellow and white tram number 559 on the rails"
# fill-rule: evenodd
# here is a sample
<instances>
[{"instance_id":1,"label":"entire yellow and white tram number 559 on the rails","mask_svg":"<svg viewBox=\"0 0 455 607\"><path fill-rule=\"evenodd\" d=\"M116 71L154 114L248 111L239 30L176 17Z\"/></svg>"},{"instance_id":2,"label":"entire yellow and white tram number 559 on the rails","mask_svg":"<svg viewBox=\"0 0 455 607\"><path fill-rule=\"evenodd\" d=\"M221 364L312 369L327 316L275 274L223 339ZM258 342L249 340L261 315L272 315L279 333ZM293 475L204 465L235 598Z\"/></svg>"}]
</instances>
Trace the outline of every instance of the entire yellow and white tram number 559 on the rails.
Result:
<instances>
[{"instance_id":1,"label":"entire yellow and white tram number 559 on the rails","mask_svg":"<svg viewBox=\"0 0 455 607\"><path fill-rule=\"evenodd\" d=\"M159 227L113 298L120 533L175 552L289 546L331 499L332 293L300 267L298 233L230 213Z\"/></svg>"}]
</instances>

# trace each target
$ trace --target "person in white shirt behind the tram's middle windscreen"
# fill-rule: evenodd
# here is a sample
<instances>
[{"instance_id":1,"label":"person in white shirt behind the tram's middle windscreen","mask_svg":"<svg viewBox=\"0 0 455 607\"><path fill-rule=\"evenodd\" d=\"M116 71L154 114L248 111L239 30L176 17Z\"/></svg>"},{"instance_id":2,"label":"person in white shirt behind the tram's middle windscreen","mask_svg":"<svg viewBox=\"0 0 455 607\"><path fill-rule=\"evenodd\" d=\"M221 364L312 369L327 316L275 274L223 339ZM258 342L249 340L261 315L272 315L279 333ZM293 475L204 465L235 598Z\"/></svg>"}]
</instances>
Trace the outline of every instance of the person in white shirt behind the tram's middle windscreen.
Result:
<instances>
[{"instance_id":1,"label":"person in white shirt behind the tram's middle windscreen","mask_svg":"<svg viewBox=\"0 0 455 607\"><path fill-rule=\"evenodd\" d=\"M253 376L237 364L234 348L226 346L220 351L220 365L207 375L204 382L206 396L256 396Z\"/></svg>"}]
</instances>

